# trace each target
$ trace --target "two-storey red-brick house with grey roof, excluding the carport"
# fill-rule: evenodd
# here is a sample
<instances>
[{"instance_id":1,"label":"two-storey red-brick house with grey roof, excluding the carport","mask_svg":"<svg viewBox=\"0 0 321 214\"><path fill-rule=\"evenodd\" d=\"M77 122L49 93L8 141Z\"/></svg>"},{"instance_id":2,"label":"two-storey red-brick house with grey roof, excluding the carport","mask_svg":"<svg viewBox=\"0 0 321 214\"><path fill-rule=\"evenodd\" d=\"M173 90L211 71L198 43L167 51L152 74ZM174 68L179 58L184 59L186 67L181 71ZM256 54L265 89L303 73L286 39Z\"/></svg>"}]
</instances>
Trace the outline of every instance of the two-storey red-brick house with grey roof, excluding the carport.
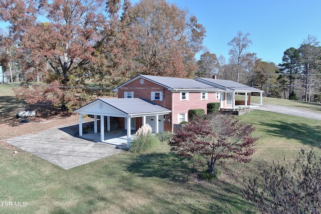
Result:
<instances>
[{"instance_id":1,"label":"two-storey red-brick house with grey roof, excluding the carport","mask_svg":"<svg viewBox=\"0 0 321 214\"><path fill-rule=\"evenodd\" d=\"M244 93L243 105L250 105L249 92L263 92L228 80L209 78L174 78L150 75L138 75L114 89L118 98L143 98L171 110L164 118L159 118L159 131L173 131L174 124L188 121L190 109L204 109L210 102L221 103L221 108L235 108L235 93ZM242 103L238 103L241 105ZM153 118L146 119L146 123ZM135 120L136 129L142 125L141 118Z\"/></svg>"}]
</instances>

